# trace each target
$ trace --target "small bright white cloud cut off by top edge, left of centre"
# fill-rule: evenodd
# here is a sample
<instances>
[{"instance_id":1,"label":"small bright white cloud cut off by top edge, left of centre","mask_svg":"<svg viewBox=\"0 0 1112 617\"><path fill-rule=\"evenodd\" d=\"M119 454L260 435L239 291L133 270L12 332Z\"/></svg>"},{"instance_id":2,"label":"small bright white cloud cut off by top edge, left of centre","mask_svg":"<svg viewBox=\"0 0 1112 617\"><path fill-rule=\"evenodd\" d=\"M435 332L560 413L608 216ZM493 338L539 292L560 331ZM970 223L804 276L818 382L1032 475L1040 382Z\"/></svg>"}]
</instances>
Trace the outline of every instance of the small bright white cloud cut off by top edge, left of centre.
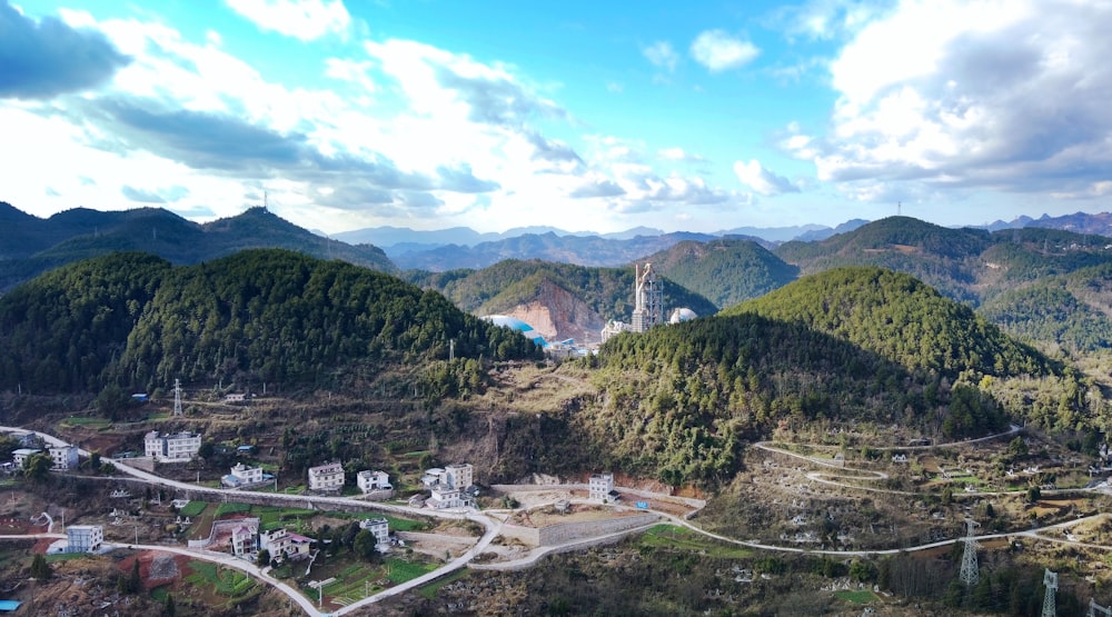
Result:
<instances>
[{"instance_id":1,"label":"small bright white cloud cut off by top edge, left of centre","mask_svg":"<svg viewBox=\"0 0 1112 617\"><path fill-rule=\"evenodd\" d=\"M228 6L270 30L301 41L344 34L351 24L341 0L227 0Z\"/></svg>"}]
</instances>

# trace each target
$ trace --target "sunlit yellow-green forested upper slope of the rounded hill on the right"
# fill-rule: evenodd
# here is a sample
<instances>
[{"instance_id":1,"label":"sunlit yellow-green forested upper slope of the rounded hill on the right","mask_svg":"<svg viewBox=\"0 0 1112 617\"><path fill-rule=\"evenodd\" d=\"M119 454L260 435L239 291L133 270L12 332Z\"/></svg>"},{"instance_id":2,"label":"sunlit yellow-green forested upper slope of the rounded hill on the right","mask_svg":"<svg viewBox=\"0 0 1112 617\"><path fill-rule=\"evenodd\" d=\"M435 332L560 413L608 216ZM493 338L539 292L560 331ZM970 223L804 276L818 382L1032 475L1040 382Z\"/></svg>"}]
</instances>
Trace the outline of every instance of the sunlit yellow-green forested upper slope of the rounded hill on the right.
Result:
<instances>
[{"instance_id":1,"label":"sunlit yellow-green forested upper slope of the rounded hill on the right","mask_svg":"<svg viewBox=\"0 0 1112 617\"><path fill-rule=\"evenodd\" d=\"M796 321L909 370L956 377L1045 375L1050 361L969 307L902 273L846 267L811 275L725 311Z\"/></svg>"}]
</instances>

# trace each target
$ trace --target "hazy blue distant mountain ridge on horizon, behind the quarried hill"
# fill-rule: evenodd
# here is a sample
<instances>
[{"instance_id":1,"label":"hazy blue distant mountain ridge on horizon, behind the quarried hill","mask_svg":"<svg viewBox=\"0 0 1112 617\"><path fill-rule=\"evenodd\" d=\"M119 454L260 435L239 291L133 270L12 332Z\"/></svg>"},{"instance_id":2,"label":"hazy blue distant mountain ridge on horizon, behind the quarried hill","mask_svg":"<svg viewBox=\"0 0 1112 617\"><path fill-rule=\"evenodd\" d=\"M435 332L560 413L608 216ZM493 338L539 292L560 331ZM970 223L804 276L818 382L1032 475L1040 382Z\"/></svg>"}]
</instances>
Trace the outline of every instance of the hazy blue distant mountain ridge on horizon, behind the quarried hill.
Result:
<instances>
[{"instance_id":1,"label":"hazy blue distant mountain ridge on horizon, behind the quarried hill","mask_svg":"<svg viewBox=\"0 0 1112 617\"><path fill-rule=\"evenodd\" d=\"M443 271L456 268L486 268L504 259L543 259L578 266L623 266L684 240L706 241L714 236L676 232L608 240L597 236L557 236L554 232L526 233L474 247L451 245L437 249L399 255L394 262L403 269Z\"/></svg>"}]
</instances>

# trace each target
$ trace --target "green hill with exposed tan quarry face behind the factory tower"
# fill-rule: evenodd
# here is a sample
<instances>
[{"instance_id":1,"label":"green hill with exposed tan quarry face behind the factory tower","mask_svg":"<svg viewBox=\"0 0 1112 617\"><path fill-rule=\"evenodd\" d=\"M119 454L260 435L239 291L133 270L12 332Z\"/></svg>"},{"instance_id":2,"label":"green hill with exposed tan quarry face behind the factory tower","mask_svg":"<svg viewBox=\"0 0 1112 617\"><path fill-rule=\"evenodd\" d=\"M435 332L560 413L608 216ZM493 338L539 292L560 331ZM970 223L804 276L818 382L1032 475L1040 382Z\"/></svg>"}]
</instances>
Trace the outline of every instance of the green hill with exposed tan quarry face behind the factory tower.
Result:
<instances>
[{"instance_id":1,"label":"green hill with exposed tan quarry face behind the factory tower","mask_svg":"<svg viewBox=\"0 0 1112 617\"><path fill-rule=\"evenodd\" d=\"M597 342L606 321L628 321L634 308L633 268L507 259L480 270L408 271L406 278L468 312L516 317L547 340ZM717 311L713 302L667 278L663 285L669 308Z\"/></svg>"}]
</instances>

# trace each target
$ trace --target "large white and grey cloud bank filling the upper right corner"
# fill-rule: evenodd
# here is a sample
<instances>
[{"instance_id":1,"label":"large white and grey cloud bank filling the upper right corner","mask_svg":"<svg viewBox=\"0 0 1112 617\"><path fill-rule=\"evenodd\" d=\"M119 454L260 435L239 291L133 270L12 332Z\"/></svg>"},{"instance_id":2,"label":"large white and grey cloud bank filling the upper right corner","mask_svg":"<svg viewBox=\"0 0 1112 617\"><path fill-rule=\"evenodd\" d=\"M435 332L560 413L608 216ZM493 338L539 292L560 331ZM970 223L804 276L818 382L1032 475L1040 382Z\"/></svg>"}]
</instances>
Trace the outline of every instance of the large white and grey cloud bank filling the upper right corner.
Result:
<instances>
[{"instance_id":1,"label":"large white and grey cloud bank filling the upper right corner","mask_svg":"<svg viewBox=\"0 0 1112 617\"><path fill-rule=\"evenodd\" d=\"M1099 195L1112 167L1110 21L1108 3L905 0L830 64L830 133L780 143L855 198L887 198L878 187L892 182Z\"/></svg>"}]
</instances>

